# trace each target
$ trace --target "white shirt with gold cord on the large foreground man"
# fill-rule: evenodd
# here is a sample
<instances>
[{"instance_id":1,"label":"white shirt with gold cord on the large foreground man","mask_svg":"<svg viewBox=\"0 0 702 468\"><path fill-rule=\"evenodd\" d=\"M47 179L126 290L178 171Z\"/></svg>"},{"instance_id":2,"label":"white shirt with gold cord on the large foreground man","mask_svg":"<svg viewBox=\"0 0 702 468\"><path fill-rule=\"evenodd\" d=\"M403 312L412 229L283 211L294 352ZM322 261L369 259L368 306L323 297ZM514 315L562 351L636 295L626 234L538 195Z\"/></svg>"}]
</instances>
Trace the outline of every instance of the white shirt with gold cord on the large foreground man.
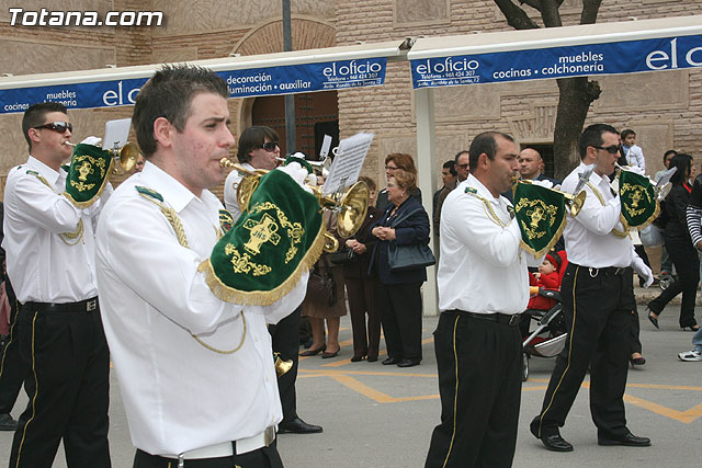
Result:
<instances>
[{"instance_id":1,"label":"white shirt with gold cord on the large foreground man","mask_svg":"<svg viewBox=\"0 0 702 468\"><path fill-rule=\"evenodd\" d=\"M162 195L182 221L182 247L160 208L135 190ZM219 201L196 197L157 165L125 181L98 229L98 286L105 335L121 383L134 445L173 456L262 433L282 419L268 322L305 296L306 275L272 306L217 299L197 272L219 232ZM244 328L246 319L246 332ZM204 347L192 335L220 351ZM258 448L258 447L257 447Z\"/></svg>"}]
</instances>

